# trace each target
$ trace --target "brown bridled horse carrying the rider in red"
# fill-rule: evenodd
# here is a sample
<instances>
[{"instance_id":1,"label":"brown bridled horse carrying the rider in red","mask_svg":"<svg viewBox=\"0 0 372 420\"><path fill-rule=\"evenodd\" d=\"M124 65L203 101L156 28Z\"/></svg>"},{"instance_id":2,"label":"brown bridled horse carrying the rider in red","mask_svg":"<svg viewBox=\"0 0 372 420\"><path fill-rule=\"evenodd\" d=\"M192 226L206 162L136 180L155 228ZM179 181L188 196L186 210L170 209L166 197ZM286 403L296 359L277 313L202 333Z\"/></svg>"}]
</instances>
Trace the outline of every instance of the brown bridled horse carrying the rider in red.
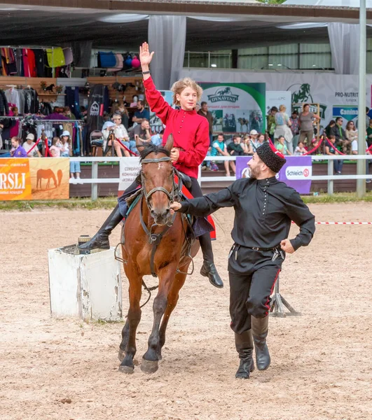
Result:
<instances>
[{"instance_id":1,"label":"brown bridled horse carrying the rider in red","mask_svg":"<svg viewBox=\"0 0 372 420\"><path fill-rule=\"evenodd\" d=\"M137 146L142 158L142 194L122 230L124 270L129 280L130 307L119 349L120 372L132 373L136 353L136 330L141 319L139 301L143 276L159 278L158 295L153 301L153 328L149 347L142 358L141 370L153 373L165 343L165 330L184 285L191 258L199 249L186 239L188 221L183 214L170 212L170 203L179 200L170 160L173 137L165 148ZM154 251L154 246L155 250ZM157 246L157 247L156 247Z\"/></svg>"}]
</instances>

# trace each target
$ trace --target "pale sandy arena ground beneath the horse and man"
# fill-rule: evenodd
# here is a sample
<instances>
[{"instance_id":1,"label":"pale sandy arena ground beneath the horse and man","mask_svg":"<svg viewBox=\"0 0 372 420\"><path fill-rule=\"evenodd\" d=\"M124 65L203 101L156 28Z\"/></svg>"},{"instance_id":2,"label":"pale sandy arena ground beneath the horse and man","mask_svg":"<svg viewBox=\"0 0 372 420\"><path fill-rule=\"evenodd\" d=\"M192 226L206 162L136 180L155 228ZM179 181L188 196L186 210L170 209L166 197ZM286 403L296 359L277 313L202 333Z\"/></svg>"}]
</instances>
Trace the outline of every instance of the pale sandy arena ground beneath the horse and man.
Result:
<instances>
[{"instance_id":1,"label":"pale sandy arena ground beneath the horse and man","mask_svg":"<svg viewBox=\"0 0 372 420\"><path fill-rule=\"evenodd\" d=\"M311 209L317 221L372 220L372 204ZM188 278L153 375L139 366L132 375L118 372L122 323L50 318L48 248L95 232L108 213L0 214L1 420L372 419L372 226L320 225L308 248L288 256L281 291L303 315L270 318L270 368L237 381L227 281L218 290L199 274ZM226 280L233 212L222 209L217 218L223 230L214 252ZM119 229L112 243L118 237ZM127 289L123 278L124 311ZM151 322L148 304L138 362Z\"/></svg>"}]
</instances>

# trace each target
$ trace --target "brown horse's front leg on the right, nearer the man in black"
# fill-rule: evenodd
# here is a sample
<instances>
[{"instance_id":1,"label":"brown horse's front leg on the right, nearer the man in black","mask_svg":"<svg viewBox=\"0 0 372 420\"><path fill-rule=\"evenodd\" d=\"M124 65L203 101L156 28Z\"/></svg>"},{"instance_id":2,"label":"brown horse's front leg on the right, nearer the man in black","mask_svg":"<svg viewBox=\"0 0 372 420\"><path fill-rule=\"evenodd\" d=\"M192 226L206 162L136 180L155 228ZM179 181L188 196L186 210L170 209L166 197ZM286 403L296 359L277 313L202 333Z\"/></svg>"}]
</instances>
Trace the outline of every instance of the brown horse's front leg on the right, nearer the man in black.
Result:
<instances>
[{"instance_id":1,"label":"brown horse's front leg on the right, nearer the man in black","mask_svg":"<svg viewBox=\"0 0 372 420\"><path fill-rule=\"evenodd\" d=\"M160 321L165 309L167 309L167 296L174 282L174 274L177 266L167 265L159 273L159 291L153 300L153 329L149 337L149 348L142 358L141 370L146 373L153 373L158 370L158 353L160 352Z\"/></svg>"}]
</instances>

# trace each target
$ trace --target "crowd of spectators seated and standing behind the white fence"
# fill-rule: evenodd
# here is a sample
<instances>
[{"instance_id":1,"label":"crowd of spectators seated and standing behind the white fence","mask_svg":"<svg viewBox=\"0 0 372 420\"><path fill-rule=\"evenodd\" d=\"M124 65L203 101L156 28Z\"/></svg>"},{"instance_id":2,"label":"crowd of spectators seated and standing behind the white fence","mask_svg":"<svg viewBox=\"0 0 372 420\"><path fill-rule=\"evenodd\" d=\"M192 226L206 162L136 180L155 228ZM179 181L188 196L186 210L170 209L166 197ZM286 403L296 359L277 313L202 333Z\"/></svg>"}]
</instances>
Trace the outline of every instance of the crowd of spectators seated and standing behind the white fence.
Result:
<instances>
[{"instance_id":1,"label":"crowd of spectators seated and standing behind the white fence","mask_svg":"<svg viewBox=\"0 0 372 420\"><path fill-rule=\"evenodd\" d=\"M266 132L259 133L256 130L242 132L240 134L223 133L215 134L213 130L214 116L208 110L207 102L198 104L198 114L207 118L209 123L209 150L207 155L216 156L252 156L256 149L266 141L275 144L278 151L284 155L356 155L371 154L368 150L372 146L372 119L368 118L366 109L366 151L358 151L358 128L354 121L348 121L345 129L344 120L341 117L331 120L324 128L322 135L316 132L316 126L320 117L310 111L310 104L303 104L302 110L291 111L284 105L279 108L273 106L266 116ZM51 114L53 116L53 114ZM61 115L57 114L57 118ZM71 111L65 110L64 117L72 119ZM50 116L48 117L50 118ZM53 118L52 118L53 119ZM160 145L163 141L163 129L158 133L151 132L150 113L146 109L144 101L137 102L137 111L132 118L124 104L114 104L112 113L104 115L102 135L102 151L111 151L119 157L137 155L136 145L141 142L152 142ZM1 124L0 124L1 129ZM316 135L315 135L316 134ZM28 134L22 144L19 137L11 138L11 156L16 158L41 157L41 149L36 146L34 134ZM67 158L71 156L71 141L68 131L62 132L60 137L53 137L49 149L53 158ZM218 162L208 160L203 162L202 170L219 170ZM223 161L226 176L235 175L234 160ZM334 173L342 174L343 160L334 160ZM81 168L79 162L70 165L70 182L80 183ZM368 174L368 161L367 161ZM367 180L367 182L371 182Z\"/></svg>"}]
</instances>

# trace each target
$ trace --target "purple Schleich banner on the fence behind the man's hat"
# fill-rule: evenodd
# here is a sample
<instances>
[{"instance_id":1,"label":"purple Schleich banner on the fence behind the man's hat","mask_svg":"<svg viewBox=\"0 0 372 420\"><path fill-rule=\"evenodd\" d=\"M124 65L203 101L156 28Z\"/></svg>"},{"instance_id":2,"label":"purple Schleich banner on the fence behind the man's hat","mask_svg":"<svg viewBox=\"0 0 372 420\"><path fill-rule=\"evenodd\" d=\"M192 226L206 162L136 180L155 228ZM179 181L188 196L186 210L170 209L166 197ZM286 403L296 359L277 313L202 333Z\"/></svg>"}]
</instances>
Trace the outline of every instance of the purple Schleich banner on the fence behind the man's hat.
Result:
<instances>
[{"instance_id":1,"label":"purple Schleich banner on the fence behind the man's hat","mask_svg":"<svg viewBox=\"0 0 372 420\"><path fill-rule=\"evenodd\" d=\"M251 156L237 156L236 178L249 178L247 162ZM300 194L309 194L312 176L312 161L310 156L286 156L287 162L277 174L277 179L294 188Z\"/></svg>"}]
</instances>

